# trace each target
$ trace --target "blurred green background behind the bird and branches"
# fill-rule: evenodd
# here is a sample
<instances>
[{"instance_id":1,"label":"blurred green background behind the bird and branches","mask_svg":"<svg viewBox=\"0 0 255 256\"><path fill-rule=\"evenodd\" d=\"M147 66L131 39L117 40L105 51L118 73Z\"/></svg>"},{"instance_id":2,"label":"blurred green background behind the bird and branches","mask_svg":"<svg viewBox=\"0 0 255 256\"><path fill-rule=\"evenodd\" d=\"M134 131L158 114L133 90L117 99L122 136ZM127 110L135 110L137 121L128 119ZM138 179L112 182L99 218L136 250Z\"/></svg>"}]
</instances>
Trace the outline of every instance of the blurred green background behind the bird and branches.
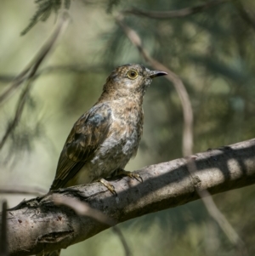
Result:
<instances>
[{"instance_id":1,"label":"blurred green background behind the bird and branches","mask_svg":"<svg viewBox=\"0 0 255 256\"><path fill-rule=\"evenodd\" d=\"M57 1L56 1L57 2ZM98 100L117 65L150 68L115 22L125 9L170 11L212 4L195 14L152 19L125 14L144 48L182 79L194 111L194 152L255 137L255 2L253 0L71 1L71 23L32 82L19 125L0 151L0 187L48 191L59 152L77 118ZM53 31L57 15L24 36L37 11L32 1L0 3L0 94L31 61ZM0 104L1 138L14 117L24 85ZM156 79L144 97L144 135L135 170L182 156L183 113L173 84ZM213 196L218 208L255 255L255 187ZM33 196L0 195L14 207ZM238 255L201 201L151 213L119 225L133 255ZM123 255L112 230L63 250L61 255Z\"/></svg>"}]
</instances>

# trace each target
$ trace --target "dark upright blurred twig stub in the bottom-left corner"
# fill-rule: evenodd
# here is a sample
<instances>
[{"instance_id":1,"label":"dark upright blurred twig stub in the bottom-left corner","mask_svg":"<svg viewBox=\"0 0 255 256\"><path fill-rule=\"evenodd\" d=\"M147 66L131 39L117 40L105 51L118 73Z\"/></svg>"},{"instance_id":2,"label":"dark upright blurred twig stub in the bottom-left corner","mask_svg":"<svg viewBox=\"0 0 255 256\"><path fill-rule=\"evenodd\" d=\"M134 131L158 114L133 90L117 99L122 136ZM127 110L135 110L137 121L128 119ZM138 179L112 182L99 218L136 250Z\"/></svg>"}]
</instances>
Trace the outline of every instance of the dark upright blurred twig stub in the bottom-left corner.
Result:
<instances>
[{"instance_id":1,"label":"dark upright blurred twig stub in the bottom-left corner","mask_svg":"<svg viewBox=\"0 0 255 256\"><path fill-rule=\"evenodd\" d=\"M0 256L8 256L8 240L7 240L7 202L2 203L2 218L0 230Z\"/></svg>"}]
</instances>

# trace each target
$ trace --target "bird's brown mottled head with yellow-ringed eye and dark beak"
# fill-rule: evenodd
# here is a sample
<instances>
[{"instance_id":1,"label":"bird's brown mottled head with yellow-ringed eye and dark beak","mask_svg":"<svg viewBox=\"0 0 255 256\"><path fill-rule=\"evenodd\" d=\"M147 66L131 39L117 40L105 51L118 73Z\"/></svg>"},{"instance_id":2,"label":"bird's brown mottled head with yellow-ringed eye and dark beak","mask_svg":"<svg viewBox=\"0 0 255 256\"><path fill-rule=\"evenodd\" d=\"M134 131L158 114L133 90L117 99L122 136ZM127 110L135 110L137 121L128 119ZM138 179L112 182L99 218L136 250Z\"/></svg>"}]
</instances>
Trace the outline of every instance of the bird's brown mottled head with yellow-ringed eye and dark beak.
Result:
<instances>
[{"instance_id":1,"label":"bird's brown mottled head with yellow-ringed eye and dark beak","mask_svg":"<svg viewBox=\"0 0 255 256\"><path fill-rule=\"evenodd\" d=\"M165 75L167 75L166 72L150 71L139 64L121 65L107 78L104 91L120 97L132 94L143 96L152 78Z\"/></svg>"}]
</instances>

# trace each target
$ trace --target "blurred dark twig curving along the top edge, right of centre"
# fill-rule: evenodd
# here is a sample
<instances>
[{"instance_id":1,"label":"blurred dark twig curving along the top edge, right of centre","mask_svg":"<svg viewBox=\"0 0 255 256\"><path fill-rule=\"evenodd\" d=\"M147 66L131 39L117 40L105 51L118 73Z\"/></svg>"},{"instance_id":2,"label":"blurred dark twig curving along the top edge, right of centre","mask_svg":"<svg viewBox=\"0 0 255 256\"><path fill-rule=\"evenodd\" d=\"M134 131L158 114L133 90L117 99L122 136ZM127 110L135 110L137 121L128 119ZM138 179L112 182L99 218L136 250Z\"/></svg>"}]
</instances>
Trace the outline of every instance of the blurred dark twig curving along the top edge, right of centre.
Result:
<instances>
[{"instance_id":1,"label":"blurred dark twig curving along the top edge, right of centre","mask_svg":"<svg viewBox=\"0 0 255 256\"><path fill-rule=\"evenodd\" d=\"M210 9L215 5L218 5L220 3L227 3L229 0L212 0L207 3L202 3L200 5L197 5L195 7L189 7L174 11L165 11L165 12L156 12L156 11L144 11L141 9L127 9L122 11L122 14L133 14L138 15L141 17L147 17L150 19L158 19L158 20L167 20L167 19L173 19L173 18L182 18L188 15L197 14L200 13L206 9Z\"/></svg>"}]
</instances>

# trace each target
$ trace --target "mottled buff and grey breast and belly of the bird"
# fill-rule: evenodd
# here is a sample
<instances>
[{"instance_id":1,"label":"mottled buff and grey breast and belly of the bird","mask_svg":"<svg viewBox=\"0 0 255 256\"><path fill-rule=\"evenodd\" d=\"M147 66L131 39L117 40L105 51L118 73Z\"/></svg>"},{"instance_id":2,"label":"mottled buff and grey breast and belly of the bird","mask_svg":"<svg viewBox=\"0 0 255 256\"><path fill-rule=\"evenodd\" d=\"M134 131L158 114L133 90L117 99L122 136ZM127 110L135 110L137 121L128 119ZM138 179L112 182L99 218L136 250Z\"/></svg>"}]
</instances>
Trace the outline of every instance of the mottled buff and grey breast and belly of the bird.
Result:
<instances>
[{"instance_id":1,"label":"mottled buff and grey breast and belly of the bird","mask_svg":"<svg viewBox=\"0 0 255 256\"><path fill-rule=\"evenodd\" d=\"M109 133L95 151L94 157L84 166L84 170L86 169L84 173L87 173L87 178L89 178L88 182L107 178L116 169L125 168L130 158L138 151L142 130L142 108L130 105L111 108Z\"/></svg>"}]
</instances>

